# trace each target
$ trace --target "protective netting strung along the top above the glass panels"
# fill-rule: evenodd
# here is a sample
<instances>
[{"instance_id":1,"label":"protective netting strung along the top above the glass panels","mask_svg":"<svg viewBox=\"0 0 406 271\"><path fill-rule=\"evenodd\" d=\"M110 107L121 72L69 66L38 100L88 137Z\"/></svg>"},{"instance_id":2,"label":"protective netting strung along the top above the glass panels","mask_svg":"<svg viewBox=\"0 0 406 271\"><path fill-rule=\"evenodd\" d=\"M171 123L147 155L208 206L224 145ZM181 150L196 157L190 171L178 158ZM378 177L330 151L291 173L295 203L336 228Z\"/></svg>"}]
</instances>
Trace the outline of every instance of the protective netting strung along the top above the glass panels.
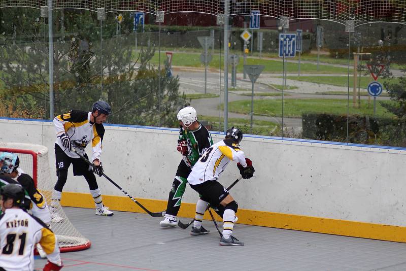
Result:
<instances>
[{"instance_id":1,"label":"protective netting strung along the top above the glass panels","mask_svg":"<svg viewBox=\"0 0 406 271\"><path fill-rule=\"evenodd\" d=\"M41 8L47 0L0 1L0 8ZM355 20L355 25L366 22L406 23L406 0L228 0L229 15L249 15L259 10L261 16L288 16L290 19L322 19L344 23ZM216 15L224 13L222 0L53 0L53 9L86 9L105 12L143 11L156 14L198 12Z\"/></svg>"}]
</instances>

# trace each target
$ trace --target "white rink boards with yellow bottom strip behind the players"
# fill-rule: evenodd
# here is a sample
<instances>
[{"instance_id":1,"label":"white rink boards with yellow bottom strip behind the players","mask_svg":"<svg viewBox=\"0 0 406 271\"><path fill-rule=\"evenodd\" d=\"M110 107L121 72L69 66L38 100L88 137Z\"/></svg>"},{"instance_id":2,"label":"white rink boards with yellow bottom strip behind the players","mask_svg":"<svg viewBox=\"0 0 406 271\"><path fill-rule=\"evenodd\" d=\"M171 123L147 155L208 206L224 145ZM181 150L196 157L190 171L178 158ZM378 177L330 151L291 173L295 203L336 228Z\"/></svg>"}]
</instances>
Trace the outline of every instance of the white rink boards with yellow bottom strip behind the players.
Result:
<instances>
[{"instance_id":1,"label":"white rink boards with yellow bottom strip behind the players","mask_svg":"<svg viewBox=\"0 0 406 271\"><path fill-rule=\"evenodd\" d=\"M176 129L106 125L105 173L149 210L164 210L181 159L177 134ZM2 119L0 141L48 147L56 180L51 122ZM241 148L256 172L230 191L239 202L239 223L406 242L404 149L250 136ZM228 186L238 175L230 163L220 182ZM97 180L106 206L142 212L106 179ZM82 195L88 193L87 183L72 170L64 191L66 206L93 205L90 195ZM188 187L180 216L194 215L197 198Z\"/></svg>"}]
</instances>

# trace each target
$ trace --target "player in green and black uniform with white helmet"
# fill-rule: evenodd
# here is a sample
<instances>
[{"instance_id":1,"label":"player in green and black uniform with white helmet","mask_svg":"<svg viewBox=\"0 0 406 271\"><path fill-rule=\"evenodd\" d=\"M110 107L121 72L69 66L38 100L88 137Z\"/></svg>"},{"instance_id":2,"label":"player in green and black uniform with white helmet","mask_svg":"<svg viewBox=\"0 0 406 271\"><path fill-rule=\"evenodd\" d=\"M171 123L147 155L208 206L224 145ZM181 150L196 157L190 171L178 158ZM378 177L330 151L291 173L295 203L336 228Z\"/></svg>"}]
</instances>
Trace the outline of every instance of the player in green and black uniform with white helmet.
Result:
<instances>
[{"instance_id":1,"label":"player in green and black uniform with white helmet","mask_svg":"<svg viewBox=\"0 0 406 271\"><path fill-rule=\"evenodd\" d=\"M180 130L177 150L183 155L183 158L169 192L165 219L159 223L162 228L175 227L178 224L176 216L185 192L187 177L201 154L213 144L212 136L208 129L197 120L197 113L193 107L181 109L178 113L178 120Z\"/></svg>"}]
</instances>

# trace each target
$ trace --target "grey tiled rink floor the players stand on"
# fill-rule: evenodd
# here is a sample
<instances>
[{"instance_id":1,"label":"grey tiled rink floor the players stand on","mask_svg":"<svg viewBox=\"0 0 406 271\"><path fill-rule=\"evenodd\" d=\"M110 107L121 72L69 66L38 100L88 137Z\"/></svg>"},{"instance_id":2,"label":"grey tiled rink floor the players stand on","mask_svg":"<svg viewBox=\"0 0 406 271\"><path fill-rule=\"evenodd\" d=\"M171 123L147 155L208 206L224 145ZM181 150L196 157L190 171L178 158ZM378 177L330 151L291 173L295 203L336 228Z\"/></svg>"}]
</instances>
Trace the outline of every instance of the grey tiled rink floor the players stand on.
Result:
<instances>
[{"instance_id":1,"label":"grey tiled rink floor the players stand on","mask_svg":"<svg viewBox=\"0 0 406 271\"><path fill-rule=\"evenodd\" d=\"M224 247L210 220L203 221L210 234L191 236L191 226L161 229L162 218L147 214L63 210L92 245L62 253L62 270L406 270L403 243L236 224L233 235L245 246ZM36 270L45 263L36 257Z\"/></svg>"}]
</instances>

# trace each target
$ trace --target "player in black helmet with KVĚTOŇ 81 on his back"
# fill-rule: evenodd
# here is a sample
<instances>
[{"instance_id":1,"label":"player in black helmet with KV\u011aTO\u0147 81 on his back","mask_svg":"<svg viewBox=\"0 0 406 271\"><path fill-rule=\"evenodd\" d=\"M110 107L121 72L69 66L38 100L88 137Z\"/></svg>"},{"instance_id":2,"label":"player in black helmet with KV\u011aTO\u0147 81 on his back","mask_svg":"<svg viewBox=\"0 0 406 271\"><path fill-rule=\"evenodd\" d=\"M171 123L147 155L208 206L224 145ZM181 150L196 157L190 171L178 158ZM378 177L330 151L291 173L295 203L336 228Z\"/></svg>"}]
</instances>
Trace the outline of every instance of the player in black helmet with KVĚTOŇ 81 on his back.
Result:
<instances>
[{"instance_id":1,"label":"player in black helmet with KV\u011aTO\u0147 81 on his back","mask_svg":"<svg viewBox=\"0 0 406 271\"><path fill-rule=\"evenodd\" d=\"M20 208L24 189L8 184L0 189L0 271L32 271L34 247L40 243L48 261L44 271L62 268L56 235L40 219Z\"/></svg>"}]
</instances>

